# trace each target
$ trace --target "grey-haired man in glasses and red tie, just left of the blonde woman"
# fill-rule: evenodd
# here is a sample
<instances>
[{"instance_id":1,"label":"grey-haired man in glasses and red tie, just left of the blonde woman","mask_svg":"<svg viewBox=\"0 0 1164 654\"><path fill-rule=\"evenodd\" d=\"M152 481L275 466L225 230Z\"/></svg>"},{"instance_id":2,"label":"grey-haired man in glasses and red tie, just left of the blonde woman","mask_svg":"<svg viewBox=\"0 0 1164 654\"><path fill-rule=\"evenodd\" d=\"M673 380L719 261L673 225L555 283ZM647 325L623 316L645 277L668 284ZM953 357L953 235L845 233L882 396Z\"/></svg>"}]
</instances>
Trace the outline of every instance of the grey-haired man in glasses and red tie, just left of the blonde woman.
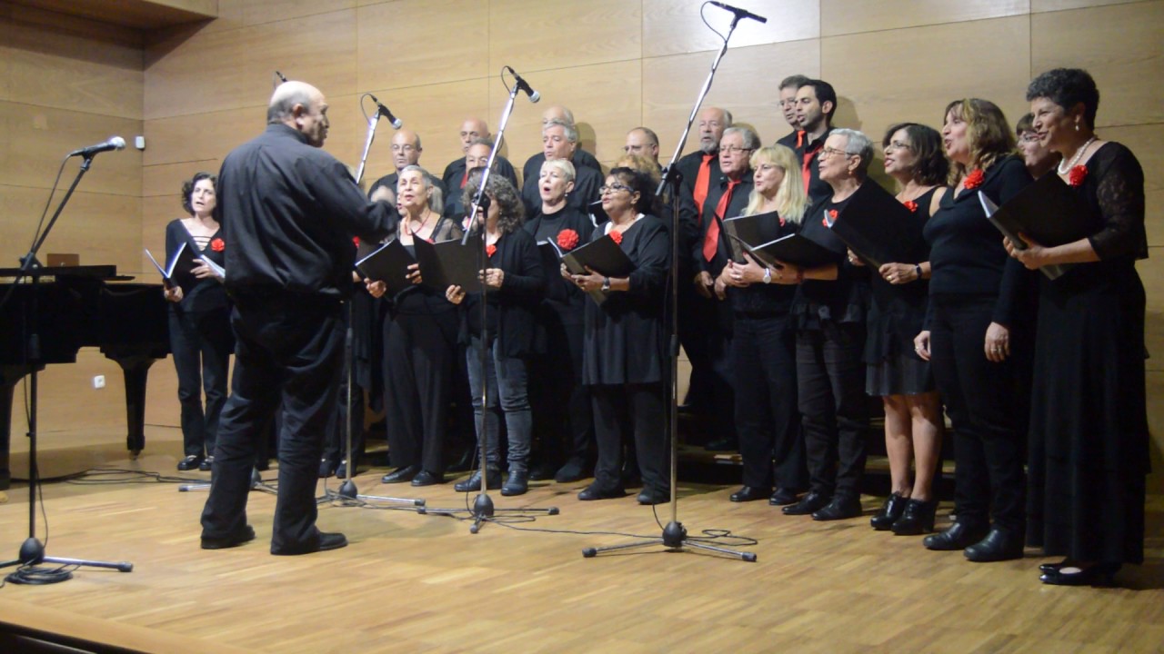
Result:
<instances>
[{"instance_id":1,"label":"grey-haired man in glasses and red tie, just left of the blonde woman","mask_svg":"<svg viewBox=\"0 0 1164 654\"><path fill-rule=\"evenodd\" d=\"M695 290L704 300L701 313L707 317L703 348L708 354L710 376L710 405L718 419L712 421L714 449L737 447L734 414L736 399L732 388L731 334L732 308L726 299L726 287L718 282L728 265L730 249L723 221L744 213L752 192L752 169L748 161L760 148L760 137L746 127L729 127L719 141L719 177L708 186L708 197L700 215L700 234L691 246L690 258L695 269ZM684 199L684 213L694 202Z\"/></svg>"}]
</instances>

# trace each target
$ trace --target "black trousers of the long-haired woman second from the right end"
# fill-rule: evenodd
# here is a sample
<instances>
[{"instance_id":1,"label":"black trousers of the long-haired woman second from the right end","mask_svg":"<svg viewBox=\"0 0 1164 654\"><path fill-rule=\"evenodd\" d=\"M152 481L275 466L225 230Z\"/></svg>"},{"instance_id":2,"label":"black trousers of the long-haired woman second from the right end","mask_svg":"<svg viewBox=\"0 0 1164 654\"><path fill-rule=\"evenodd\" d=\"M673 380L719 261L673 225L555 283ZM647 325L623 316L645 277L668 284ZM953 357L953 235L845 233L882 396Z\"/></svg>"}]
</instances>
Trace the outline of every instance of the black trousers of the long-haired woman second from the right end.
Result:
<instances>
[{"instance_id":1,"label":"black trousers of the long-haired woman second from the right end","mask_svg":"<svg viewBox=\"0 0 1164 654\"><path fill-rule=\"evenodd\" d=\"M1022 417L1015 362L984 351L993 296L932 296L930 361L954 429L954 513L959 523L1025 528ZM1012 339L1012 344L1017 342Z\"/></svg>"}]
</instances>

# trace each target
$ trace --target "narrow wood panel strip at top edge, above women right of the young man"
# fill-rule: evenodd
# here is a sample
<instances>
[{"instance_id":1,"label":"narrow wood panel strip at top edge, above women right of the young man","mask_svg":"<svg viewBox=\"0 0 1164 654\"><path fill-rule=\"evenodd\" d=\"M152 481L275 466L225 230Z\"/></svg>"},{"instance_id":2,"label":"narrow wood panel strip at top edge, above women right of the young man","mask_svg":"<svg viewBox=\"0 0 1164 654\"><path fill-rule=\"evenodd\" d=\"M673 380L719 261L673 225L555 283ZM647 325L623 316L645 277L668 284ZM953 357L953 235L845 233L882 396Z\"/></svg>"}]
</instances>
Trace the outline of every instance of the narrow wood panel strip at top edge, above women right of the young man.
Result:
<instances>
[{"instance_id":1,"label":"narrow wood panel strip at top edge, above women right of the young man","mask_svg":"<svg viewBox=\"0 0 1164 654\"><path fill-rule=\"evenodd\" d=\"M1025 16L1029 0L821 0L823 36L875 33L939 23L959 23L1002 16ZM999 35L978 43L999 43ZM913 62L914 59L899 59Z\"/></svg>"}]
</instances>

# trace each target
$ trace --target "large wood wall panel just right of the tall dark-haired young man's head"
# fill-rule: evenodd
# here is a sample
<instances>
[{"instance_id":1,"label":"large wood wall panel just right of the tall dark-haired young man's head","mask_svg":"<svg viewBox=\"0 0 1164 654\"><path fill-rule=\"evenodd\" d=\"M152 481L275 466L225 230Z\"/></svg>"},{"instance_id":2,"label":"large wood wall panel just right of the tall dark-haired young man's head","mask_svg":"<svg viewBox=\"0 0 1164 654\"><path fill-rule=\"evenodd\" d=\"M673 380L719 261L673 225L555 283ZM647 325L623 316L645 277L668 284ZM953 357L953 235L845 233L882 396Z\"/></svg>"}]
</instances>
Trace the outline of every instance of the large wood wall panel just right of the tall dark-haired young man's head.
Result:
<instances>
[{"instance_id":1,"label":"large wood wall panel just right of the tall dark-haired young man's head","mask_svg":"<svg viewBox=\"0 0 1164 654\"><path fill-rule=\"evenodd\" d=\"M967 95L998 104L1014 122L1028 111L1018 92L1030 80L1028 28L1027 16L1015 16L824 38L821 74L839 98L835 125L876 142L903 120L941 129L946 104ZM892 56L874 55L889 43Z\"/></svg>"}]
</instances>

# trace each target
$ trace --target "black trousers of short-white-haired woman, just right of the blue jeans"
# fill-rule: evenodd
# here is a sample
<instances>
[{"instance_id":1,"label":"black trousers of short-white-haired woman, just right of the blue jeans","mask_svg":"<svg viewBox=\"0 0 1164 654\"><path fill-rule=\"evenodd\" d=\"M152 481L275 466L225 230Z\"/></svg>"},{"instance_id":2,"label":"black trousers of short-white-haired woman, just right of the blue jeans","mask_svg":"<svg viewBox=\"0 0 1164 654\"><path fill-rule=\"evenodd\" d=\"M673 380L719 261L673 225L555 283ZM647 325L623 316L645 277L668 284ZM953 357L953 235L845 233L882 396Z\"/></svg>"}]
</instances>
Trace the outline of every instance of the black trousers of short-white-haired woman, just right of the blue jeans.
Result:
<instances>
[{"instance_id":1,"label":"black trousers of short-white-haired woman, just right of the blue jeans","mask_svg":"<svg viewBox=\"0 0 1164 654\"><path fill-rule=\"evenodd\" d=\"M584 465L595 446L590 388L582 384L582 324L566 322L558 312L544 311L546 354L534 357L530 370L540 460L552 465L575 460Z\"/></svg>"}]
</instances>

